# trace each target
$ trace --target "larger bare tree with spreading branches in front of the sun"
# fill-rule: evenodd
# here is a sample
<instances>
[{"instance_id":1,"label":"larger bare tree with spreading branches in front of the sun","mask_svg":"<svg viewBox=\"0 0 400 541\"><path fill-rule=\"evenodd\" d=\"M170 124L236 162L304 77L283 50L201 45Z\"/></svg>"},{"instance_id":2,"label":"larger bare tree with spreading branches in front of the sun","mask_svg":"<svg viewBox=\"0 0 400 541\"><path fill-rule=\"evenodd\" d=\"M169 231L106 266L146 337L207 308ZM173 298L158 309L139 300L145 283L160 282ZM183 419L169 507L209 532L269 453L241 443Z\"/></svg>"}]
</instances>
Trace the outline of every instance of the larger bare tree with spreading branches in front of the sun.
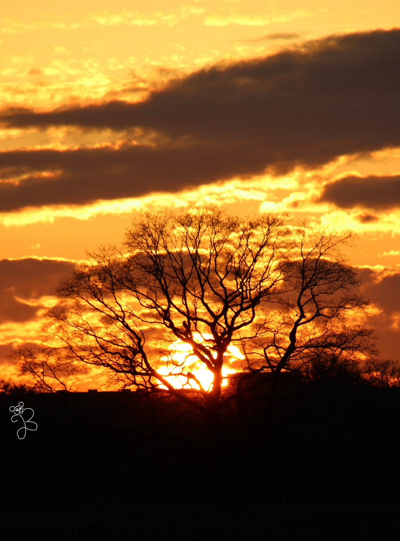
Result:
<instances>
[{"instance_id":1,"label":"larger bare tree with spreading branches in front of the sun","mask_svg":"<svg viewBox=\"0 0 400 541\"><path fill-rule=\"evenodd\" d=\"M276 216L240 220L215 207L144 214L122 250L102 248L61 283L64 305L50 312L51 332L72 357L108 369L112 381L152 391L162 386L220 432L226 351L261 300L275 294L286 245L284 222ZM212 374L210 387L190 363L154 345L174 341L188 344ZM178 377L186 380L182 388L174 385Z\"/></svg>"}]
</instances>

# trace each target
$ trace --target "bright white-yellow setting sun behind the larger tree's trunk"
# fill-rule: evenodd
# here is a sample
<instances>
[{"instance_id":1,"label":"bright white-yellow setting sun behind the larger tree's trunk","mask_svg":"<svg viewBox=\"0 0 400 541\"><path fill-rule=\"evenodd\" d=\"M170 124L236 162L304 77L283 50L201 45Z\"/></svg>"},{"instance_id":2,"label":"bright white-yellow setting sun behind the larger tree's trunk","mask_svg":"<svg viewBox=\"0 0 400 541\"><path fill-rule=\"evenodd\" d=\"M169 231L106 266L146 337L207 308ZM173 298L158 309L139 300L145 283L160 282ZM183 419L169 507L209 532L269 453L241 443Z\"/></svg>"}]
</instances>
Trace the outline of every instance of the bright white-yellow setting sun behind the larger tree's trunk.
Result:
<instances>
[{"instance_id":1,"label":"bright white-yellow setting sun behind the larger tree's trunk","mask_svg":"<svg viewBox=\"0 0 400 541\"><path fill-rule=\"evenodd\" d=\"M194 338L197 342L206 344L206 341L211 339L212 335L194 333ZM189 375L185 375L193 374L205 391L211 390L214 374L196 357L190 344L176 340L169 346L168 350L169 353L161 357L163 365L158 368L158 373L165 377L166 381L177 389L199 389L199 385ZM213 354L213 357L215 358L216 354ZM225 354L224 366L222 367L223 386L228 385L229 374L241 370L241 361L243 360L244 355L239 348L235 345L229 345ZM166 389L165 385L159 387Z\"/></svg>"}]
</instances>

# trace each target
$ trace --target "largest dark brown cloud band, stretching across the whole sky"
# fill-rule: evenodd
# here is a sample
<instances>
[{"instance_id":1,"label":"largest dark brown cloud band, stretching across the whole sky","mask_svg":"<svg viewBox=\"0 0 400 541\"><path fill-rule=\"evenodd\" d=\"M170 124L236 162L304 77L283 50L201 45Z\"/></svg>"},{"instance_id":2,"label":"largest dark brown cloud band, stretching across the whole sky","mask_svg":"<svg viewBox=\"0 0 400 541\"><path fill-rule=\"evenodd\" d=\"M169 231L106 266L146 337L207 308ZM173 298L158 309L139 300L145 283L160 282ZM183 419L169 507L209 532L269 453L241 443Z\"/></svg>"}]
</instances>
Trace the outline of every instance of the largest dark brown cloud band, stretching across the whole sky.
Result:
<instances>
[{"instance_id":1,"label":"largest dark brown cloud band, stretching across the whole sky","mask_svg":"<svg viewBox=\"0 0 400 541\"><path fill-rule=\"evenodd\" d=\"M8 127L126 130L127 139L142 129L158 136L152 144L126 142L118 149L0 153L0 178L19 179L0 183L0 212L177 192L400 146L399 70L400 30L376 30L204 68L142 102L4 110L0 121ZM351 206L352 198L376 208L372 196L363 199L360 190L336 182L325 187L325 201ZM379 182L384 188L382 177ZM385 193L374 194L382 208Z\"/></svg>"}]
</instances>

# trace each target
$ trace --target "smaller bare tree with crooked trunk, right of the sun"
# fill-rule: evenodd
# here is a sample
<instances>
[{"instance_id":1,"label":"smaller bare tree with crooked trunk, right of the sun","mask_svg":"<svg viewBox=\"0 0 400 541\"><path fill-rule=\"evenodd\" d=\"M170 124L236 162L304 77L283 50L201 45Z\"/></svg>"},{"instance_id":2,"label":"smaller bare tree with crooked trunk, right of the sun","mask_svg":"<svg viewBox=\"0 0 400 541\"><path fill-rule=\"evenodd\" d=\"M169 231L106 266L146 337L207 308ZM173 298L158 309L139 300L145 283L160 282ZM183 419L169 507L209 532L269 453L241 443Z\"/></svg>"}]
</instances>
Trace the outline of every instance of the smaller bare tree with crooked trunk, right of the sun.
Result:
<instances>
[{"instance_id":1,"label":"smaller bare tree with crooked trunk, right of the sun","mask_svg":"<svg viewBox=\"0 0 400 541\"><path fill-rule=\"evenodd\" d=\"M243 402L246 380L259 372L269 373L265 415L274 404L283 372L326 381L333 375L358 374L362 362L377 354L375 329L364 322L370 317L370 301L356 293L356 273L341 253L344 245L351 244L352 235L310 232L304 222L292 230L292 240L281 291L262 301L264 312L255 319L254 335L247 340L252 362L237 382ZM251 395L249 385L247 394Z\"/></svg>"}]
</instances>

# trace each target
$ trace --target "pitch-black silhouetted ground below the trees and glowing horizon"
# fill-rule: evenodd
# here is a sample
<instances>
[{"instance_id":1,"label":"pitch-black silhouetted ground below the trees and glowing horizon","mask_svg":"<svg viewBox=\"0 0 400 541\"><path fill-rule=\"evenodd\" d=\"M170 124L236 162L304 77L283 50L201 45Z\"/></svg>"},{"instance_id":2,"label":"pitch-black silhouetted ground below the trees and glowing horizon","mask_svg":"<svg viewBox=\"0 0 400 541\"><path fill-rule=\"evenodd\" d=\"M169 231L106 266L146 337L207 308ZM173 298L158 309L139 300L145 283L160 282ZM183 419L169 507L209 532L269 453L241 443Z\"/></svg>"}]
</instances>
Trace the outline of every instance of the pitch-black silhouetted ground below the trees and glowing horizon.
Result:
<instances>
[{"instance_id":1,"label":"pitch-black silhouetted ground below the trees and glowing horizon","mask_svg":"<svg viewBox=\"0 0 400 541\"><path fill-rule=\"evenodd\" d=\"M399 538L399 390L332 397L250 432L227 423L216 447L201 420L170 426L173 407L141 412L133 393L2 395L0 537ZM19 440L21 400L38 429Z\"/></svg>"}]
</instances>

